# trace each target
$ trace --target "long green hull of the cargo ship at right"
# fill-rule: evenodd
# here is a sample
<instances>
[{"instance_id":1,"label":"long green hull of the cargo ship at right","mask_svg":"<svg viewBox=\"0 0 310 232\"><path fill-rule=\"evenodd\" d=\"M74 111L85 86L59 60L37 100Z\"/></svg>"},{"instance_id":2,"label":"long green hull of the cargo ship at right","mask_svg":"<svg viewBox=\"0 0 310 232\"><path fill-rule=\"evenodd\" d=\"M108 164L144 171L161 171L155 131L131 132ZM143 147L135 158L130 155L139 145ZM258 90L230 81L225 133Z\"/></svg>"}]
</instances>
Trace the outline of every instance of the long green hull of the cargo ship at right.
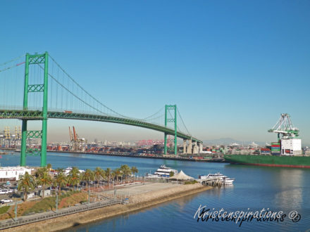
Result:
<instances>
[{"instance_id":1,"label":"long green hull of the cargo ship at right","mask_svg":"<svg viewBox=\"0 0 310 232\"><path fill-rule=\"evenodd\" d=\"M310 168L310 156L224 155L225 161L240 165Z\"/></svg>"}]
</instances>

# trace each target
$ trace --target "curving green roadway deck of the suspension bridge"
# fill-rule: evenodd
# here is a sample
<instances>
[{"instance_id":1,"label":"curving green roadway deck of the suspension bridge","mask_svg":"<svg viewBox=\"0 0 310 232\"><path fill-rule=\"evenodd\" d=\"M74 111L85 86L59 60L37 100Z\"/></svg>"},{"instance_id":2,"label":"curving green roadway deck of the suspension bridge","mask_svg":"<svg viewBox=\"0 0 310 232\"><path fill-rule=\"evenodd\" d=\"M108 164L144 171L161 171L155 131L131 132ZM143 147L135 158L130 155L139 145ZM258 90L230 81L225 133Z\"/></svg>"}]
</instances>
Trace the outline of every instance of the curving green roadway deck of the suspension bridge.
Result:
<instances>
[{"instance_id":1,"label":"curving green roadway deck of the suspension bridge","mask_svg":"<svg viewBox=\"0 0 310 232\"><path fill-rule=\"evenodd\" d=\"M143 122L140 120L125 118L125 117L114 117L108 115L92 115L79 112L57 112L49 111L47 112L48 118L54 119L66 119L66 120L89 120L98 122L113 122L118 124L127 124L135 127L143 127L147 129L153 129L155 131L161 131L166 134L171 134L174 136L175 131L168 127L163 127L158 124L151 124L149 122ZM0 119L19 119L19 120L42 120L42 111L39 110L0 110ZM188 134L184 134L177 131L178 138L192 139L192 141L197 141L202 143L198 138L194 138Z\"/></svg>"}]
</instances>

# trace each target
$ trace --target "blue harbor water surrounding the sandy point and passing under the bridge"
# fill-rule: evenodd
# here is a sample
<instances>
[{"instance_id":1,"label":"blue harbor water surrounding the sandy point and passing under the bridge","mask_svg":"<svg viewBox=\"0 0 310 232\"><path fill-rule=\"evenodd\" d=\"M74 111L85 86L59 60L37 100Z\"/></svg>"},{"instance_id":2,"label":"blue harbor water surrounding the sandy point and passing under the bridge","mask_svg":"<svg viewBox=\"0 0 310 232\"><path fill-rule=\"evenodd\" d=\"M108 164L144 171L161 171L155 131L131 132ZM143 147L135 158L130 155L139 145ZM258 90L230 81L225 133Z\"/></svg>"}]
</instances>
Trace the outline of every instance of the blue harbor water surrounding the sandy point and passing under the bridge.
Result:
<instances>
[{"instance_id":1,"label":"blue harbor water surrounding the sandy point and passing under the bridge","mask_svg":"<svg viewBox=\"0 0 310 232\"><path fill-rule=\"evenodd\" d=\"M19 165L19 153L2 155L1 166ZM40 157L27 157L27 165L39 166ZM213 188L144 210L111 217L68 231L307 231L310 230L310 169L256 167L226 163L158 160L139 157L113 157L71 153L48 153L53 168L77 166L79 169L101 167L114 169L127 164L139 169L139 176L155 172L160 165L182 170L197 178L199 174L221 172L235 178L233 186ZM199 206L208 212L277 212L282 220L202 221ZM262 211L263 210L263 211ZM200 211L202 212L202 210ZM282 213L281 213L282 212ZM295 217L295 213L299 217ZM196 217L194 215L196 214ZM283 216L285 215L285 216Z\"/></svg>"}]
</instances>

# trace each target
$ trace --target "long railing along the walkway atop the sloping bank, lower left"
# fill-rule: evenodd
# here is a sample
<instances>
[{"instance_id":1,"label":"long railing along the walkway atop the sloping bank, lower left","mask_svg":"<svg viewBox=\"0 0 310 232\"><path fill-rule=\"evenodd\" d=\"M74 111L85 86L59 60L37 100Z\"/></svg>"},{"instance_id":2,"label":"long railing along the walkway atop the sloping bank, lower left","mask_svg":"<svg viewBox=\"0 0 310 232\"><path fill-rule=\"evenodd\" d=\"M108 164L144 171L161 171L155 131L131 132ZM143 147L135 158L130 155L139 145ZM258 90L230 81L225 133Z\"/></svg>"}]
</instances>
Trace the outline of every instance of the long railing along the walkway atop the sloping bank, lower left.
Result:
<instances>
[{"instance_id":1,"label":"long railing along the walkway atop the sloping bank, lower left","mask_svg":"<svg viewBox=\"0 0 310 232\"><path fill-rule=\"evenodd\" d=\"M0 221L0 229L4 229L4 228L11 228L14 226L21 226L21 225L25 225L25 224L29 224L32 222L37 222L37 221L42 221L42 220L46 220L46 219L52 219L55 217L61 217L61 216L65 216L68 214L75 214L77 212L83 212L83 211L87 211L87 210L94 210L97 208L101 208L101 207L106 207L109 205L116 205L116 204L120 204L123 203L123 200L109 200L106 202L92 202L89 203L89 205L78 205L78 206L73 206L65 209L61 209L58 210L58 212L44 212L44 213L40 213L34 216L25 216L25 217L20 217L18 218L16 221Z\"/></svg>"}]
</instances>

